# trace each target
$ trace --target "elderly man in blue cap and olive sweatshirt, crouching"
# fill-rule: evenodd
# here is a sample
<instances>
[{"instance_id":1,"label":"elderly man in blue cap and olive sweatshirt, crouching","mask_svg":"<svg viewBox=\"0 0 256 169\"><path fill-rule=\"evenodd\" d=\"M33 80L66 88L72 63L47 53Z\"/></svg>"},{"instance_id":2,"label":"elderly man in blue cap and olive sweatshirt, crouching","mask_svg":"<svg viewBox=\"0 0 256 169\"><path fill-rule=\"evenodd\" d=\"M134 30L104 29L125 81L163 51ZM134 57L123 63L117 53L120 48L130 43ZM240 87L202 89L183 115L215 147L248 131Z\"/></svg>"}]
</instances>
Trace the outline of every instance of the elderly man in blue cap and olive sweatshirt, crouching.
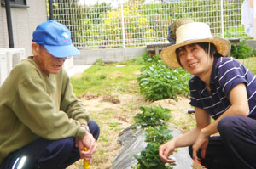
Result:
<instances>
[{"instance_id":1,"label":"elderly man in blue cap and olive sweatshirt, crouching","mask_svg":"<svg viewBox=\"0 0 256 169\"><path fill-rule=\"evenodd\" d=\"M53 20L38 25L32 54L0 87L0 168L57 169L90 161L100 131L62 69L67 57L80 54L70 31Z\"/></svg>"}]
</instances>

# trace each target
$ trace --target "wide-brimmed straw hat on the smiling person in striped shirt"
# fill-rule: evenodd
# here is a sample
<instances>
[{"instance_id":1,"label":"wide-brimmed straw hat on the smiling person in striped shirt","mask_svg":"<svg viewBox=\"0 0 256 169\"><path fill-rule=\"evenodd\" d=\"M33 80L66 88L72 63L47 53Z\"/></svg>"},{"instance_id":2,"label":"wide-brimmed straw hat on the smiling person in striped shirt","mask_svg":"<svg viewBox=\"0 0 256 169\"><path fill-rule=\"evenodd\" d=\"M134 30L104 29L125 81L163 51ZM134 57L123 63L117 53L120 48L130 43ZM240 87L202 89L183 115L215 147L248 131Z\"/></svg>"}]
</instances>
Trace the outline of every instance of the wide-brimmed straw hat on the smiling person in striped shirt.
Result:
<instances>
[{"instance_id":1,"label":"wide-brimmed straw hat on the smiling person in striped shirt","mask_svg":"<svg viewBox=\"0 0 256 169\"><path fill-rule=\"evenodd\" d=\"M160 53L161 59L172 69L181 67L176 58L176 49L188 44L198 42L211 42L215 45L219 54L227 56L230 54L230 42L221 37L212 37L209 25L201 22L192 22L181 25L176 31L176 43L164 48Z\"/></svg>"}]
</instances>

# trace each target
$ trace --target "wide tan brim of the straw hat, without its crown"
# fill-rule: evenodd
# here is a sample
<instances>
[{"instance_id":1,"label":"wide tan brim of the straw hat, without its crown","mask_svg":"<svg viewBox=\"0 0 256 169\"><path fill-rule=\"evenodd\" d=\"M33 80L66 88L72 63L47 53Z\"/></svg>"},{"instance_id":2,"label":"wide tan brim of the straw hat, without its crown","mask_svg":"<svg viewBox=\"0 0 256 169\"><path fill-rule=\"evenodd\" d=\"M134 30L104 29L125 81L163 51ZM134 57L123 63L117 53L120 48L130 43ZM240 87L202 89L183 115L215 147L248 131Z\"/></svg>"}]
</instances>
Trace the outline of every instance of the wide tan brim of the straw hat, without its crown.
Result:
<instances>
[{"instance_id":1,"label":"wide tan brim of the straw hat, without its crown","mask_svg":"<svg viewBox=\"0 0 256 169\"><path fill-rule=\"evenodd\" d=\"M177 43L170 47L164 48L160 53L161 59L166 63L166 65L168 65L172 69L180 68L181 65L179 65L176 57L176 49L192 43L198 43L198 42L211 42L212 44L215 45L219 54L222 54L223 56L228 56L230 54L230 48L231 48L230 41L221 37L211 37L211 38L205 38L205 39L189 40L186 42Z\"/></svg>"}]
</instances>

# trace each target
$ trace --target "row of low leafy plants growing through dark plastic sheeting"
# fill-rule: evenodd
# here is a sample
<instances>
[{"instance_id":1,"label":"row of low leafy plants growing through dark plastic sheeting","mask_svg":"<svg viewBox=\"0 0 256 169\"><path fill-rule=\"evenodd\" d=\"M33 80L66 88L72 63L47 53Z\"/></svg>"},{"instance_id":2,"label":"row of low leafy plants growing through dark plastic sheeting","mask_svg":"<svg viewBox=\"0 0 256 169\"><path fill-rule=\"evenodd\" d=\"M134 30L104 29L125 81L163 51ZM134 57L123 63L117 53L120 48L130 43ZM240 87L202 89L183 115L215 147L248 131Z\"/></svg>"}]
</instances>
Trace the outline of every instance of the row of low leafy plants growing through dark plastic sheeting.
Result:
<instances>
[{"instance_id":1,"label":"row of low leafy plants growing through dark plastic sheeting","mask_svg":"<svg viewBox=\"0 0 256 169\"><path fill-rule=\"evenodd\" d=\"M171 118L170 110L164 109L161 106L154 105L153 108L148 106L140 107L143 111L135 116L135 126L141 126L146 130L146 139L148 142L146 149L140 155L134 155L137 159L137 166L134 169L167 169L172 166L166 166L160 160L158 148L167 140L172 139L170 134L172 131L166 127L166 121Z\"/></svg>"}]
</instances>

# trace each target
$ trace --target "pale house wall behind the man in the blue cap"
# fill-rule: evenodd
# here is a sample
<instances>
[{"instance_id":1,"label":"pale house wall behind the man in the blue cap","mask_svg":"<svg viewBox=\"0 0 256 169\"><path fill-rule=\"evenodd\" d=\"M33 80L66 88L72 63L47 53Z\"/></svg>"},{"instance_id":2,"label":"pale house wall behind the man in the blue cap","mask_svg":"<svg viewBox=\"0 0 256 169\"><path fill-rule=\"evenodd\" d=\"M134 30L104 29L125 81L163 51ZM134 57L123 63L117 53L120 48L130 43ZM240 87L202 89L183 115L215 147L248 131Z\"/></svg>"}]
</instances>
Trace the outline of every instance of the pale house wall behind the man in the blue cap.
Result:
<instances>
[{"instance_id":1,"label":"pale house wall behind the man in the blue cap","mask_svg":"<svg viewBox=\"0 0 256 169\"><path fill-rule=\"evenodd\" d=\"M32 55L32 32L47 20L46 1L26 0L28 8L11 8L15 48L25 48ZM5 7L0 7L0 48L9 48L9 37Z\"/></svg>"}]
</instances>

